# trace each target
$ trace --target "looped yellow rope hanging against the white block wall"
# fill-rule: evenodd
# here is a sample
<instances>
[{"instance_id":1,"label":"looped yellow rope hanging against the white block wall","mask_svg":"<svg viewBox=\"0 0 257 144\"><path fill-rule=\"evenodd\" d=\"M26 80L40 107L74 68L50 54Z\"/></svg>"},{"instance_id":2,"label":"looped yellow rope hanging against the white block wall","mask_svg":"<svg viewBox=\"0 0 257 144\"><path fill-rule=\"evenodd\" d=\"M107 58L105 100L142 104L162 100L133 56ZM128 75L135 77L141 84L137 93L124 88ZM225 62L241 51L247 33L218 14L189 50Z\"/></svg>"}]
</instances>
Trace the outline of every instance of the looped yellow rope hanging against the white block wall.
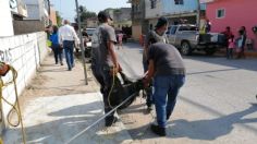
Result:
<instances>
[{"instance_id":1,"label":"looped yellow rope hanging against the white block wall","mask_svg":"<svg viewBox=\"0 0 257 144\"><path fill-rule=\"evenodd\" d=\"M22 112L21 112L21 108L20 108L20 103L19 103L19 99L17 99L17 86L16 86L16 77L17 77L17 72L16 70L11 67L11 65L8 65L10 68L10 71L12 71L12 75L13 75L13 80L10 81L10 82L7 82L5 84L3 83L2 81L2 77L0 76L0 99L2 99L3 101L5 101L8 105L10 105L12 107L12 110L9 111L8 113L8 123L11 125L11 127L17 127L21 124L22 127L22 139L23 139L23 144L26 144L26 136L25 136L25 129L24 129L24 124L23 124L23 119L22 119ZM15 104L12 105L10 101L8 101L3 96L2 96L2 88L3 87L7 87L11 84L14 84L14 92L15 92ZM0 100L0 105L2 106L2 101ZM17 123L12 123L11 122L11 113L12 111L15 111L15 113L17 115Z\"/></svg>"}]
</instances>

